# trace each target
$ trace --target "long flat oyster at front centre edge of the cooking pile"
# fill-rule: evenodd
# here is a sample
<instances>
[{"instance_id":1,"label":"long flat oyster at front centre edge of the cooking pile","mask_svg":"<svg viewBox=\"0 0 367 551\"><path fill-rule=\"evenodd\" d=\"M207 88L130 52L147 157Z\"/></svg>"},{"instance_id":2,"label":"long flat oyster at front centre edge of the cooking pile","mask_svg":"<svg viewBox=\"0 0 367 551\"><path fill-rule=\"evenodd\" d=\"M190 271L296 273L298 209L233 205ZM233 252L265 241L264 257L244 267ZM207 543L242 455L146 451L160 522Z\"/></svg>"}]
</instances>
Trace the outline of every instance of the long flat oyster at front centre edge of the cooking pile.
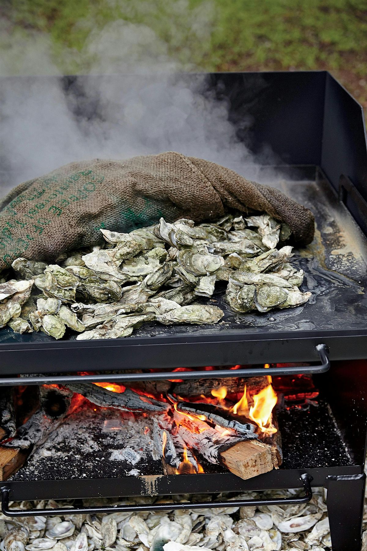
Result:
<instances>
[{"instance_id":1,"label":"long flat oyster at front centre edge of the cooking pile","mask_svg":"<svg viewBox=\"0 0 367 551\"><path fill-rule=\"evenodd\" d=\"M165 314L156 316L156 320L164 325L173 323L217 323L224 316L224 312L218 306L191 304L170 310Z\"/></svg>"}]
</instances>

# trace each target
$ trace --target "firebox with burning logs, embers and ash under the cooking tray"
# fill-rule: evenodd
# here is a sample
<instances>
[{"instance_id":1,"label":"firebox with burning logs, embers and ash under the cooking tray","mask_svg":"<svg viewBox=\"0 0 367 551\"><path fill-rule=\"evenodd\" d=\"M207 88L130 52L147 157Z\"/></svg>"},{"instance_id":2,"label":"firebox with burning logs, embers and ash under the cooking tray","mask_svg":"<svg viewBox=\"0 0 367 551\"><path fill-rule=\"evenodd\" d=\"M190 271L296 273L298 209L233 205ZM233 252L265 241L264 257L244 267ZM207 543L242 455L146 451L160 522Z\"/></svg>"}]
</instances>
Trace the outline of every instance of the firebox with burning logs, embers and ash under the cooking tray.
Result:
<instances>
[{"instance_id":1,"label":"firebox with burning logs, embers and ash under the cooking tray","mask_svg":"<svg viewBox=\"0 0 367 551\"><path fill-rule=\"evenodd\" d=\"M188 368L180 369L184 370ZM148 485L144 490L146 480L168 475L175 493L175 480L181 475L203 476L206 487L206 475L235 474L240 483L240 478L274 468L349 466L354 464L353 453L342 423L334 417L334 404L331 407L331 378L328 372L246 380L147 380L126 386L44 386L38 409L13 439L2 442L13 444L14 450L21 437L21 457L26 457L8 479L123 478L127 495L136 495L129 489L131 477L142 484L140 493L149 494ZM22 408L25 396L18 396ZM140 410L118 409L126 400ZM45 426L48 434L30 443L28 452L27 439ZM255 458L255 467L241 464L244 454Z\"/></svg>"}]
</instances>

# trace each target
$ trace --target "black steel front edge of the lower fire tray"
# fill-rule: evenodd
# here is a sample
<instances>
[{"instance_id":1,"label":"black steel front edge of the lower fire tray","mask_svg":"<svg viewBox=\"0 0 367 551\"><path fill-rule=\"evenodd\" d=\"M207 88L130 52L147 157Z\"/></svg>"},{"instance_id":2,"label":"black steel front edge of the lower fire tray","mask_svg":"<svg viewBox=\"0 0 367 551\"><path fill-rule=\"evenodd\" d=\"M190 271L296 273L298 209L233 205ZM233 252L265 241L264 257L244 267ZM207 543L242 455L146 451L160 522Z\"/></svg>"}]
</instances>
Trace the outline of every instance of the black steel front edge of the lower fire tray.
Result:
<instances>
[{"instance_id":1,"label":"black steel front edge of the lower fire tray","mask_svg":"<svg viewBox=\"0 0 367 551\"><path fill-rule=\"evenodd\" d=\"M232 473L138 476L69 480L7 480L14 501L50 499L120 498L120 496L217 494L272 489L301 488L301 474L312 477L312 487L327 487L332 476L359 476L362 466L278 469L242 480ZM121 498L122 499L122 498Z\"/></svg>"}]
</instances>

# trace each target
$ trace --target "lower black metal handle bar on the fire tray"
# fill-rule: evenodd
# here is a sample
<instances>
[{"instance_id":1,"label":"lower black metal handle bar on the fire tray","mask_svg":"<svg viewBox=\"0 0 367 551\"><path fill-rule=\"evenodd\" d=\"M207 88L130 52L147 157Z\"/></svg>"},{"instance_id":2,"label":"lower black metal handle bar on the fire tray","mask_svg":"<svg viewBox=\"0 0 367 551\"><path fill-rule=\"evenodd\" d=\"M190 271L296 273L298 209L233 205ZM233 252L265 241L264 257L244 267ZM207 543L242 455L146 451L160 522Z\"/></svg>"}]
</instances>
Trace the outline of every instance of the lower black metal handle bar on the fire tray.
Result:
<instances>
[{"instance_id":1,"label":"lower black metal handle bar on the fire tray","mask_svg":"<svg viewBox=\"0 0 367 551\"><path fill-rule=\"evenodd\" d=\"M52 515L77 515L111 512L140 512L140 511L172 511L177 509L211 509L212 507L250 507L254 505L300 505L308 503L312 499L311 480L309 474L302 474L300 480L303 484L305 495L298 498L274 498L274 499L238 499L228 501L198 501L196 503L158 503L152 505L107 505L106 507L58 507L58 509L9 509L10 489L1 488L1 510L9 517L25 516L52 516ZM52 512L51 512L52 511Z\"/></svg>"}]
</instances>

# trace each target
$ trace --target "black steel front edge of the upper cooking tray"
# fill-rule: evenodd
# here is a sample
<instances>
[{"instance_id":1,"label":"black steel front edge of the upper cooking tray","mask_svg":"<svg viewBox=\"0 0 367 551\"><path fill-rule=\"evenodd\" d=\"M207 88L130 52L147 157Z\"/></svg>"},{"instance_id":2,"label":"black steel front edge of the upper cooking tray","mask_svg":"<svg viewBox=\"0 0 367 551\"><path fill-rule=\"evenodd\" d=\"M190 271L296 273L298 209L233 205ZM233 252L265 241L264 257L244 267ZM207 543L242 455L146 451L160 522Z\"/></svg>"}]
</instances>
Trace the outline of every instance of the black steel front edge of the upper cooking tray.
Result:
<instances>
[{"instance_id":1,"label":"black steel front edge of the upper cooking tray","mask_svg":"<svg viewBox=\"0 0 367 551\"><path fill-rule=\"evenodd\" d=\"M122 339L123 340L123 339ZM195 368L204 365L236 365L317 361L315 347L326 344L330 360L354 360L367 357L367 332L358 336L257 339L238 341L171 342L156 345L18 348L0 350L0 375L49 374L67 371L111 371L124 369ZM59 344L59 343L57 343ZM107 360L107 361L106 361ZM77 367L75 367L77 366ZM172 377L175 378L175 377Z\"/></svg>"}]
</instances>

